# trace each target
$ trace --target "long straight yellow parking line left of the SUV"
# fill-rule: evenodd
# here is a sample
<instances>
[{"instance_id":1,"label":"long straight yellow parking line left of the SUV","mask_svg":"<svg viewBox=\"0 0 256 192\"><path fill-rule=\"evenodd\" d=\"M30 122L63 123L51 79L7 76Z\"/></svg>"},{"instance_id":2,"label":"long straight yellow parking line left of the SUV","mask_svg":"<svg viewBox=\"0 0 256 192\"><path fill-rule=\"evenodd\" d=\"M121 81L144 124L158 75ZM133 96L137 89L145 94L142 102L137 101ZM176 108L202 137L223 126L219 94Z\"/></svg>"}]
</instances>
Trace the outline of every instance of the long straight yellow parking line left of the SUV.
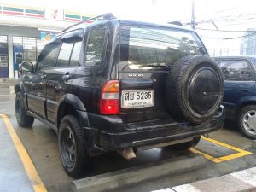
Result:
<instances>
[{"instance_id":1,"label":"long straight yellow parking line left of the SUV","mask_svg":"<svg viewBox=\"0 0 256 192\"><path fill-rule=\"evenodd\" d=\"M23 144L20 141L20 138L17 136L13 125L9 121L9 118L5 114L0 114L0 117L3 119L6 129L9 132L9 136L15 144L15 148L18 154L20 155L20 160L22 161L22 164L26 170L27 177L32 183L34 191L47 192L44 183L39 177L38 172L35 166L33 165L32 160L29 157L29 154L27 154L26 148L23 146Z\"/></svg>"}]
</instances>

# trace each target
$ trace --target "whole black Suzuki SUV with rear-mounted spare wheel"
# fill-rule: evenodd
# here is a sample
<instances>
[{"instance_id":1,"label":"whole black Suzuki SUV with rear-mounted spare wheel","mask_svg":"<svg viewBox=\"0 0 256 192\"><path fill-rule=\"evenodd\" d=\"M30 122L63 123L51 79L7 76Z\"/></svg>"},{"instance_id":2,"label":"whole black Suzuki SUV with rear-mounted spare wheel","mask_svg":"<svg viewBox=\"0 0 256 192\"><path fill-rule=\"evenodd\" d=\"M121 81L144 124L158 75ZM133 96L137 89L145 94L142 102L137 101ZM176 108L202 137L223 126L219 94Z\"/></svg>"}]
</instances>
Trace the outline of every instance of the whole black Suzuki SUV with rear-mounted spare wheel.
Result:
<instances>
[{"instance_id":1,"label":"whole black Suzuki SUV with rear-mounted spare wheel","mask_svg":"<svg viewBox=\"0 0 256 192\"><path fill-rule=\"evenodd\" d=\"M70 26L20 66L18 124L58 134L68 175L92 157L172 145L187 149L224 123L223 76L194 31L107 14Z\"/></svg>"}]
</instances>

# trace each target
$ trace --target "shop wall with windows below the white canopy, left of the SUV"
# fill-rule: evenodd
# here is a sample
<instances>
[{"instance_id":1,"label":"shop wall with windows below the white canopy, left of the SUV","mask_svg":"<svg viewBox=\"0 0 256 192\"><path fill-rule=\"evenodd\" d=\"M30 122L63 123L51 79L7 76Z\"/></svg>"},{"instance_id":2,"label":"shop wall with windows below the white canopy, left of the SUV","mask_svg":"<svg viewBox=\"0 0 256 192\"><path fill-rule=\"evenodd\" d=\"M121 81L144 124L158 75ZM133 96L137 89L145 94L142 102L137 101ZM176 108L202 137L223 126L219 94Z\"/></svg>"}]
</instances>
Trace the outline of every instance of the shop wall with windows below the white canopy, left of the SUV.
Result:
<instances>
[{"instance_id":1,"label":"shop wall with windows below the white canopy, left of the SUV","mask_svg":"<svg viewBox=\"0 0 256 192\"><path fill-rule=\"evenodd\" d=\"M0 78L17 78L19 64L35 62L47 42L37 28L0 26Z\"/></svg>"}]
</instances>

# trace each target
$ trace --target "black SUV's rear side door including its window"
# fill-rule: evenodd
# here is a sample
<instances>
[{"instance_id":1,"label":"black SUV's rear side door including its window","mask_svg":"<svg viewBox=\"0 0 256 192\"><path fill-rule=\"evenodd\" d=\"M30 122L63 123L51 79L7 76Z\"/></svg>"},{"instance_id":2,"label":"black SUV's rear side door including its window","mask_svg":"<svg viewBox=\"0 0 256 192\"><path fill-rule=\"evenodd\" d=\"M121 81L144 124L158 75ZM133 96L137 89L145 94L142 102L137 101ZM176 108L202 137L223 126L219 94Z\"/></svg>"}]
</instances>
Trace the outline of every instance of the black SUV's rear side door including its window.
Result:
<instances>
[{"instance_id":1,"label":"black SUV's rear side door including its window","mask_svg":"<svg viewBox=\"0 0 256 192\"><path fill-rule=\"evenodd\" d=\"M63 42L56 65L46 73L46 113L47 119L55 123L58 106L64 94L72 91L73 75L79 66L80 42Z\"/></svg>"}]
</instances>

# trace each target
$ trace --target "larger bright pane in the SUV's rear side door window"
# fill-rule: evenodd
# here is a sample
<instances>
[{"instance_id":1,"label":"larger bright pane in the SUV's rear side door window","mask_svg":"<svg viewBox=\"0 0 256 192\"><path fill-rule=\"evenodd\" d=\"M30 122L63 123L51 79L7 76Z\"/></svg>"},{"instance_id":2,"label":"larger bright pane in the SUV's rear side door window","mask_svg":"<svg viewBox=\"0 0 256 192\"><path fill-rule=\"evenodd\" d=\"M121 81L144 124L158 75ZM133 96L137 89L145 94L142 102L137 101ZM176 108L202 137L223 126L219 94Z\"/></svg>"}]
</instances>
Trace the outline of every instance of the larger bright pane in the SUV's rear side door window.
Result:
<instances>
[{"instance_id":1,"label":"larger bright pane in the SUV's rear side door window","mask_svg":"<svg viewBox=\"0 0 256 192\"><path fill-rule=\"evenodd\" d=\"M69 58L73 49L73 43L62 43L60 54L57 61L57 67L67 67L69 64Z\"/></svg>"}]
</instances>

